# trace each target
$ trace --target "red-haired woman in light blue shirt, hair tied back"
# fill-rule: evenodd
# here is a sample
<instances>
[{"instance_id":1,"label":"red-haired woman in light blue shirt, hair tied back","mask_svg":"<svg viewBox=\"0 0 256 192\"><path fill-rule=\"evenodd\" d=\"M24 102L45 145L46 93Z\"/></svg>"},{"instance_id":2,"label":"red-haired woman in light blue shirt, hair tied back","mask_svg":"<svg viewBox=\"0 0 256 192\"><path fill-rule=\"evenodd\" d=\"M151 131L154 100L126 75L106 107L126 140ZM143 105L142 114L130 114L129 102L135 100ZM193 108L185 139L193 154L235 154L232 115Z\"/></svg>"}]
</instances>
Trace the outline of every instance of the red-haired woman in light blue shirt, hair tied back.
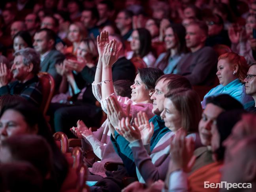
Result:
<instances>
[{"instance_id":1,"label":"red-haired woman in light blue shirt, hair tied back","mask_svg":"<svg viewBox=\"0 0 256 192\"><path fill-rule=\"evenodd\" d=\"M224 53L218 58L217 77L220 85L212 88L203 98L202 107L205 108L205 99L209 96L229 94L245 108L249 107L248 102L252 97L245 93L244 79L249 66L243 56L236 53Z\"/></svg>"}]
</instances>

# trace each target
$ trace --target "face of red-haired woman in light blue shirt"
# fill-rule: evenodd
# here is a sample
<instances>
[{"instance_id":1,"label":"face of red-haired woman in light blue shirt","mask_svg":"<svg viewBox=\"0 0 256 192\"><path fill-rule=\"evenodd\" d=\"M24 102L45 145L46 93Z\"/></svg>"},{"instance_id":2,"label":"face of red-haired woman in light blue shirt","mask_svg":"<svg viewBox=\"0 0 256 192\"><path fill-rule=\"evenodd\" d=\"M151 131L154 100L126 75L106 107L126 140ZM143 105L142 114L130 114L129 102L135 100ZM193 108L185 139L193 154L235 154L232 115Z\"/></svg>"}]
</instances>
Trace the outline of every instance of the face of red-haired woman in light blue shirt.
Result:
<instances>
[{"instance_id":1,"label":"face of red-haired woman in light blue shirt","mask_svg":"<svg viewBox=\"0 0 256 192\"><path fill-rule=\"evenodd\" d=\"M220 81L220 84L223 86L228 85L233 80L237 78L236 75L233 75L235 68L231 67L231 64L228 63L227 59L220 59L217 65L217 77ZM236 71L235 71L236 73Z\"/></svg>"}]
</instances>

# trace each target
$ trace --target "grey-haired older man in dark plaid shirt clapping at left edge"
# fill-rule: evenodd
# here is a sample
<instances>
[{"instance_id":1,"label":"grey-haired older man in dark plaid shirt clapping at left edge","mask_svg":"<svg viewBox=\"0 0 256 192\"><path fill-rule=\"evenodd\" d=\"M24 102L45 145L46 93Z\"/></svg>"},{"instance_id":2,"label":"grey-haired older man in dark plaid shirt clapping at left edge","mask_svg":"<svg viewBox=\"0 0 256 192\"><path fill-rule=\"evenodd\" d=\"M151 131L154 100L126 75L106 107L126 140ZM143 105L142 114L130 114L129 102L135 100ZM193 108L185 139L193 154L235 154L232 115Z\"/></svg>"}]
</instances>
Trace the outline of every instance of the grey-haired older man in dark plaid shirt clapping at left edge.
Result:
<instances>
[{"instance_id":1,"label":"grey-haired older man in dark plaid shirt clapping at left edge","mask_svg":"<svg viewBox=\"0 0 256 192\"><path fill-rule=\"evenodd\" d=\"M42 87L37 73L40 71L40 55L32 48L15 52L11 70L0 63L0 96L18 94L36 106L41 105ZM15 81L10 82L9 73Z\"/></svg>"}]
</instances>

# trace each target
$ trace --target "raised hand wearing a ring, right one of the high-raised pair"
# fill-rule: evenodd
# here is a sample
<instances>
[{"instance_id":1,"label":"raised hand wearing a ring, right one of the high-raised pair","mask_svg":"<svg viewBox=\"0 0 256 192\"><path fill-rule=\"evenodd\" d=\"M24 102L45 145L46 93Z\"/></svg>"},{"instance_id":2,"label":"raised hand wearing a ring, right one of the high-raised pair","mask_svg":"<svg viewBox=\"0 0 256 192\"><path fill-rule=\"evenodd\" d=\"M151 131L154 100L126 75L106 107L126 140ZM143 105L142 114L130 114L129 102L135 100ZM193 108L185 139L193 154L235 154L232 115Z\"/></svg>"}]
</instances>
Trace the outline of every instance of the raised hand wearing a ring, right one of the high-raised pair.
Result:
<instances>
[{"instance_id":1,"label":"raised hand wearing a ring, right one of the high-raised pair","mask_svg":"<svg viewBox=\"0 0 256 192\"><path fill-rule=\"evenodd\" d=\"M112 65L117 61L119 57L119 51L117 49L117 41L111 40L105 45L104 53L102 55L102 66L103 68L111 68Z\"/></svg>"}]
</instances>

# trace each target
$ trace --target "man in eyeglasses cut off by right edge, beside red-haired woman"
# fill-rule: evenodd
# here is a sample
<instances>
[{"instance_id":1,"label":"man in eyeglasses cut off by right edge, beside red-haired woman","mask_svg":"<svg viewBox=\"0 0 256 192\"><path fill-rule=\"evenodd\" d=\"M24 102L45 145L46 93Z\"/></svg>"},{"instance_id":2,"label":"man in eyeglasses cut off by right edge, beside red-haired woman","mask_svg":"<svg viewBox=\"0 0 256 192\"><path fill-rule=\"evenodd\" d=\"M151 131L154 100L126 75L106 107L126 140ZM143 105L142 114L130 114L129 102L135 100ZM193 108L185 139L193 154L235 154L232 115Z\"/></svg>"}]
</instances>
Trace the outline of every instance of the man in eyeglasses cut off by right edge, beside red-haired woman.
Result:
<instances>
[{"instance_id":1,"label":"man in eyeglasses cut off by right edge, beside red-haired woman","mask_svg":"<svg viewBox=\"0 0 256 192\"><path fill-rule=\"evenodd\" d=\"M246 94L252 96L255 102L255 104L252 107L249 107L247 111L256 113L256 63L250 66L244 82Z\"/></svg>"}]
</instances>

